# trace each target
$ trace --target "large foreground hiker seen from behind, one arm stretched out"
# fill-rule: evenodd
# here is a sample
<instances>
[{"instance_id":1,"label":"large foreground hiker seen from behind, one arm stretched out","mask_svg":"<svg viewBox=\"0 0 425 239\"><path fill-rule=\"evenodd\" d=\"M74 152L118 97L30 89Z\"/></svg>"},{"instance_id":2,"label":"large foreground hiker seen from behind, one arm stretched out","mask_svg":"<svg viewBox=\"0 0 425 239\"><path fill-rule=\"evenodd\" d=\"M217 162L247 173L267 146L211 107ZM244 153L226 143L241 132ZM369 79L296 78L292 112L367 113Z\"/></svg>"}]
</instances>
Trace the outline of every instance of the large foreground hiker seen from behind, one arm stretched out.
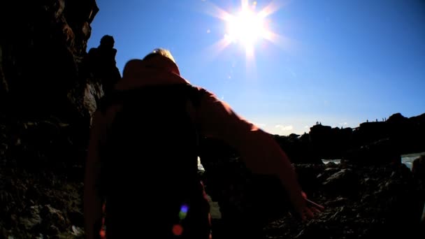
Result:
<instances>
[{"instance_id":1,"label":"large foreground hiker seen from behind, one arm stretched out","mask_svg":"<svg viewBox=\"0 0 425 239\"><path fill-rule=\"evenodd\" d=\"M271 134L233 112L215 94L180 76L170 52L127 62L123 78L94 114L85 175L87 238L99 233L106 202L111 238L210 236L209 204L197 173L198 136L224 140L253 173L275 175L301 219L308 201Z\"/></svg>"}]
</instances>

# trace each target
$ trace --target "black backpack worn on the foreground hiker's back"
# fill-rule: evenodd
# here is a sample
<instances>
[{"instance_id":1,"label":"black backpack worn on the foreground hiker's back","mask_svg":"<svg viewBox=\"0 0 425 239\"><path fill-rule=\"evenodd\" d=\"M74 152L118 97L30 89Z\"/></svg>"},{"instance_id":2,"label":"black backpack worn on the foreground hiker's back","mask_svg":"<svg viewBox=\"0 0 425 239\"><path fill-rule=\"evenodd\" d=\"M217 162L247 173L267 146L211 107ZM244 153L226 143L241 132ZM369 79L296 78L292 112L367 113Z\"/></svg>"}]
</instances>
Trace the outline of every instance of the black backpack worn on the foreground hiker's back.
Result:
<instances>
[{"instance_id":1,"label":"black backpack worn on the foreground hiker's back","mask_svg":"<svg viewBox=\"0 0 425 239\"><path fill-rule=\"evenodd\" d=\"M127 221L132 214L160 222L149 227L161 231L181 220L182 205L194 209L193 219L208 213L197 166L199 131L188 111L190 104L199 107L203 92L189 84L158 85L102 99L103 112L121 107L101 148L99 191L114 231L134 223Z\"/></svg>"}]
</instances>

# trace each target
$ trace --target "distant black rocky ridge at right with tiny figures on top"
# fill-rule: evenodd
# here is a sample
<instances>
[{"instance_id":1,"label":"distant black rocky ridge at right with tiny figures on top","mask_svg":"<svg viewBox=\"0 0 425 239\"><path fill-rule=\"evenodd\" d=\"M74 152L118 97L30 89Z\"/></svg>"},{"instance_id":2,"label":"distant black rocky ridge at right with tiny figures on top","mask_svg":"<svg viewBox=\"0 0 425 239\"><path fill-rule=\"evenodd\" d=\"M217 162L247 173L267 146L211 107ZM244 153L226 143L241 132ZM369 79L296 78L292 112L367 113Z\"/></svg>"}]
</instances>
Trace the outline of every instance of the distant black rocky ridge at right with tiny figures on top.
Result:
<instances>
[{"instance_id":1,"label":"distant black rocky ridge at right with tiny figures on top","mask_svg":"<svg viewBox=\"0 0 425 239\"><path fill-rule=\"evenodd\" d=\"M391 115L382 122L364 122L359 127L331 128L316 124L303 136L274 136L294 163L320 164L320 159L345 159L359 164L388 164L401 154L425 152L425 114Z\"/></svg>"}]
</instances>

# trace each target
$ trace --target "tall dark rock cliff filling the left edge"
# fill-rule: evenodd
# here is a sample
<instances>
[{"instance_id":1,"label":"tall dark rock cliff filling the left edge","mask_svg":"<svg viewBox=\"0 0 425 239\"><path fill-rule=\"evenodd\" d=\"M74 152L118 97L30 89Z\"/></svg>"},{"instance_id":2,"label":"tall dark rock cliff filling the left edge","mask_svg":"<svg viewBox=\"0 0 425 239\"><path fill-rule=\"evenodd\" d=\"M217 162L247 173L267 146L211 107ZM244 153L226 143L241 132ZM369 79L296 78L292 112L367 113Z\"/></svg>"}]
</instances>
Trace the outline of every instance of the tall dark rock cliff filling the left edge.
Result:
<instances>
[{"instance_id":1,"label":"tall dark rock cliff filling the left edge","mask_svg":"<svg viewBox=\"0 0 425 239\"><path fill-rule=\"evenodd\" d=\"M98 10L94 0L0 2L0 238L84 236L84 159L103 96L84 59Z\"/></svg>"}]
</instances>

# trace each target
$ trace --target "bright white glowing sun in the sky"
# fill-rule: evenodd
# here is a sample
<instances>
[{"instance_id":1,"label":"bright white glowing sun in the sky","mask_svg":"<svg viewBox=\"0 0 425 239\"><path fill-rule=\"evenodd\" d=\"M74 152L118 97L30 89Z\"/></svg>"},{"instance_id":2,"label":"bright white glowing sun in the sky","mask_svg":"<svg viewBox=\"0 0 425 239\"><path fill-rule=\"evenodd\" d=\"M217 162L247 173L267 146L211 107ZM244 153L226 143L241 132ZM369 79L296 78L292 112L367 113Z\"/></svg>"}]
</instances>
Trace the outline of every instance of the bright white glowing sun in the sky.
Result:
<instances>
[{"instance_id":1,"label":"bright white glowing sun in the sky","mask_svg":"<svg viewBox=\"0 0 425 239\"><path fill-rule=\"evenodd\" d=\"M243 44L245 48L253 48L257 40L266 38L264 17L250 8L243 8L237 15L229 16L226 22L226 38L233 43Z\"/></svg>"}]
</instances>

